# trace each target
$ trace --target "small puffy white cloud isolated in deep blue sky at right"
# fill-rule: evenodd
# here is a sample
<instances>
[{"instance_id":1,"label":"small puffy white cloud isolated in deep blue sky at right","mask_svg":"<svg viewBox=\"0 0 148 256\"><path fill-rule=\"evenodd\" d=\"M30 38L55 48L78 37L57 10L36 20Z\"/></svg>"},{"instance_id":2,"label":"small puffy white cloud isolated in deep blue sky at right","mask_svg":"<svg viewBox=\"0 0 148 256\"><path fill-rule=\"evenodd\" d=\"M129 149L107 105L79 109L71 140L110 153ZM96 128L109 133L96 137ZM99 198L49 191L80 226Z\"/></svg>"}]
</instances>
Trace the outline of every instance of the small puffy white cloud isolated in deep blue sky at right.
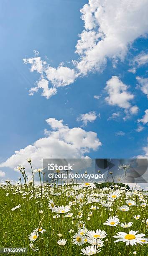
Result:
<instances>
[{"instance_id":1,"label":"small puffy white cloud isolated in deep blue sky at right","mask_svg":"<svg viewBox=\"0 0 148 256\"><path fill-rule=\"evenodd\" d=\"M130 100L133 100L134 95L127 91L128 86L123 84L117 76L112 76L112 78L107 81L105 90L109 95L105 98L109 105L117 105L125 109L131 107Z\"/></svg>"}]
</instances>

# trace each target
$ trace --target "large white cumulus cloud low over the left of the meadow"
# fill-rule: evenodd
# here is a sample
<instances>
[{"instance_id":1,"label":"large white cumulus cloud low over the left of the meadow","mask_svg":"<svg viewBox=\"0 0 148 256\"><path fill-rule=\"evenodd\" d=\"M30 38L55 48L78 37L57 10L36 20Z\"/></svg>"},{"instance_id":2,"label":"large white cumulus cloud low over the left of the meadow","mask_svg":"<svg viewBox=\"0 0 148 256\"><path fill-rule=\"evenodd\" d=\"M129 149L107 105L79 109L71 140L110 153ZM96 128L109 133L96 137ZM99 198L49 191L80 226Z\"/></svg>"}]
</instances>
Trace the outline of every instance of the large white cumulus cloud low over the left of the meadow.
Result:
<instances>
[{"instance_id":1,"label":"large white cumulus cloud low over the left of the meadow","mask_svg":"<svg viewBox=\"0 0 148 256\"><path fill-rule=\"evenodd\" d=\"M51 127L50 131L45 130L47 137L15 151L0 167L15 168L18 164L28 167L26 159L29 157L33 167L39 168L43 158L83 158L90 150L97 150L102 145L97 133L87 132L79 127L69 128L63 124L63 120L55 118L49 118L46 122Z\"/></svg>"}]
</instances>

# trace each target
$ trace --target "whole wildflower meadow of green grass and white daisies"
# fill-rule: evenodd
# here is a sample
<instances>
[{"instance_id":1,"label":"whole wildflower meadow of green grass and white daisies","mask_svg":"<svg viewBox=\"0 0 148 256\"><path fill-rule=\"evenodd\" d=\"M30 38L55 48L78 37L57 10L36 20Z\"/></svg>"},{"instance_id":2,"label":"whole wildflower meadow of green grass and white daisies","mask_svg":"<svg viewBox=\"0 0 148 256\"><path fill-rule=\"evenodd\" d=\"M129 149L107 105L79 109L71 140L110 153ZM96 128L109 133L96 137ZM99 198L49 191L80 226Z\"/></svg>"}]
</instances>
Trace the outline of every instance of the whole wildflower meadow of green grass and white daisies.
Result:
<instances>
[{"instance_id":1,"label":"whole wildflower meadow of green grass and white daisies","mask_svg":"<svg viewBox=\"0 0 148 256\"><path fill-rule=\"evenodd\" d=\"M0 186L0 247L43 256L148 256L148 192L115 183L44 183L42 169L28 181L18 168L22 179Z\"/></svg>"}]
</instances>

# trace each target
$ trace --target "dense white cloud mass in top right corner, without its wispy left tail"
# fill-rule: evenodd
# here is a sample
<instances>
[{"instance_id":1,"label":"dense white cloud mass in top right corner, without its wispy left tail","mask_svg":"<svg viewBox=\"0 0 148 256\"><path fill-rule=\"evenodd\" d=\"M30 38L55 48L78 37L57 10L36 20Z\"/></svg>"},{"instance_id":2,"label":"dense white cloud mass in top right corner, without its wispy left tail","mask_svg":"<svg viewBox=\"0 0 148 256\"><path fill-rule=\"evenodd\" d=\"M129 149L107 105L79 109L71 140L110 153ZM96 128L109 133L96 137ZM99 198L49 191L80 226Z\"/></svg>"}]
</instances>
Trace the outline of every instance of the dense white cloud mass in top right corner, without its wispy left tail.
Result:
<instances>
[{"instance_id":1,"label":"dense white cloud mass in top right corner, without its wispy left tail","mask_svg":"<svg viewBox=\"0 0 148 256\"><path fill-rule=\"evenodd\" d=\"M101 70L107 58L123 60L129 44L148 32L147 9L147 0L89 0L81 9L85 30L76 46L80 73Z\"/></svg>"}]
</instances>

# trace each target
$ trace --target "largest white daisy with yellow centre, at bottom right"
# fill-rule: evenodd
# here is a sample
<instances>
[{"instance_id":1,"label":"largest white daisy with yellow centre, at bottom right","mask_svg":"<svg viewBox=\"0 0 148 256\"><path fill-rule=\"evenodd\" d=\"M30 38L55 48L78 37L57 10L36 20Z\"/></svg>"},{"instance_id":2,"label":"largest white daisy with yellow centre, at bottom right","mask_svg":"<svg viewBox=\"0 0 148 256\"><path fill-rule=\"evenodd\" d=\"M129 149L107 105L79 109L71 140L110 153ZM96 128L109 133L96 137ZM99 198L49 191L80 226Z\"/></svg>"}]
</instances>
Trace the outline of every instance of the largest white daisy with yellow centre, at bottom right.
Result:
<instances>
[{"instance_id":1,"label":"largest white daisy with yellow centre, at bottom right","mask_svg":"<svg viewBox=\"0 0 148 256\"><path fill-rule=\"evenodd\" d=\"M129 244L133 246L133 245L136 245L136 243L143 244L141 239L143 238L143 236L146 236L146 235L145 234L136 235L138 231L130 230L129 234L125 232L119 232L117 233L117 236L113 236L115 238L119 238L116 241L114 241L114 243L122 241L122 242L126 242L126 246L128 246Z\"/></svg>"}]
</instances>

